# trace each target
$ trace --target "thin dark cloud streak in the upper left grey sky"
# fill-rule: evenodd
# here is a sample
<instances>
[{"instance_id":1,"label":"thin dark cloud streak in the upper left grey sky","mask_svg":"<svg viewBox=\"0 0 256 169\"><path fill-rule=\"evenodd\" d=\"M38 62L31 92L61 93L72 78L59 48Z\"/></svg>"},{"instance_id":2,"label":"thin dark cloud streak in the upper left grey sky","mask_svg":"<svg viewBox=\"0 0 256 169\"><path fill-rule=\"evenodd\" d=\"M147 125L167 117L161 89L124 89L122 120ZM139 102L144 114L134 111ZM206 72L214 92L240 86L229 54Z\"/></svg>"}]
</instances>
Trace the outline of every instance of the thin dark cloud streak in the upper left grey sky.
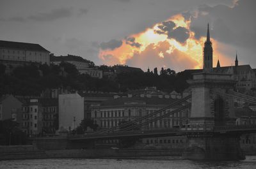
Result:
<instances>
[{"instance_id":1,"label":"thin dark cloud streak in the upper left grey sky","mask_svg":"<svg viewBox=\"0 0 256 169\"><path fill-rule=\"evenodd\" d=\"M60 18L67 18L72 16L72 8L60 8L52 10L49 13L38 13L30 15L28 18L36 21L52 21Z\"/></svg>"}]
</instances>

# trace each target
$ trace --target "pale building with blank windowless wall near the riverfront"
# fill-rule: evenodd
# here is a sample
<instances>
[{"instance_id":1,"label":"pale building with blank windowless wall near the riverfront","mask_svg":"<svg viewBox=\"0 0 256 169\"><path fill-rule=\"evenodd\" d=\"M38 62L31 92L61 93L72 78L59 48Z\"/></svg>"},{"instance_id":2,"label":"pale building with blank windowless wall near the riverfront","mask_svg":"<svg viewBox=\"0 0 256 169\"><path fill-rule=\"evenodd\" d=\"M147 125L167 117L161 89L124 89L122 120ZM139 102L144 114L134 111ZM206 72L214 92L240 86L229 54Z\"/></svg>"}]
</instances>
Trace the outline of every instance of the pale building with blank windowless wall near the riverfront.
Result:
<instances>
[{"instance_id":1,"label":"pale building with blank windowless wall near the riverfront","mask_svg":"<svg viewBox=\"0 0 256 169\"><path fill-rule=\"evenodd\" d=\"M77 128L84 119L84 98L77 93L59 95L59 129Z\"/></svg>"}]
</instances>

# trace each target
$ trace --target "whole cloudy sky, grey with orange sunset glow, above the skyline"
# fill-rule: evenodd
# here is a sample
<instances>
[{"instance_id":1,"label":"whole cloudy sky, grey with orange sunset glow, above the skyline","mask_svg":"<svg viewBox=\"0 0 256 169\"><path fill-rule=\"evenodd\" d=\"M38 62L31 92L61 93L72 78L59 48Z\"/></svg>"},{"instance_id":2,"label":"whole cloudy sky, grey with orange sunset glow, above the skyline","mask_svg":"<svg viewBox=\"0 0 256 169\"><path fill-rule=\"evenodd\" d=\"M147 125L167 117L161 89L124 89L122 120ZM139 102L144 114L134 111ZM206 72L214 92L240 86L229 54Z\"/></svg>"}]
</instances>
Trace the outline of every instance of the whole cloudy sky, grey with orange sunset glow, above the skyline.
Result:
<instances>
[{"instance_id":1,"label":"whole cloudy sky, grey with orange sunset glow, above the skyline","mask_svg":"<svg viewBox=\"0 0 256 169\"><path fill-rule=\"evenodd\" d=\"M54 55L146 71L202 68L207 24L213 64L256 68L255 0L0 0L0 40Z\"/></svg>"}]
</instances>

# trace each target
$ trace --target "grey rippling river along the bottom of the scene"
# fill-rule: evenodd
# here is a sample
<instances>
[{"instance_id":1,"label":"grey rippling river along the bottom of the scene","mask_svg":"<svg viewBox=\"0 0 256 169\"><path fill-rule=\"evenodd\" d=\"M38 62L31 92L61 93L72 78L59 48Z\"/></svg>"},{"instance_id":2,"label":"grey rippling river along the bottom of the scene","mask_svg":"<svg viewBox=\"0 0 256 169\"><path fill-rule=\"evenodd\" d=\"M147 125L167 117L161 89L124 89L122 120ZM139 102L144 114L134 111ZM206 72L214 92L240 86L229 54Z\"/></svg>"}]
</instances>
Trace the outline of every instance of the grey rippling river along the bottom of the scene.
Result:
<instances>
[{"instance_id":1,"label":"grey rippling river along the bottom of the scene","mask_svg":"<svg viewBox=\"0 0 256 169\"><path fill-rule=\"evenodd\" d=\"M140 159L24 159L0 161L0 168L19 169L180 169L180 168L256 168L256 156L243 161L190 161L180 157Z\"/></svg>"}]
</instances>

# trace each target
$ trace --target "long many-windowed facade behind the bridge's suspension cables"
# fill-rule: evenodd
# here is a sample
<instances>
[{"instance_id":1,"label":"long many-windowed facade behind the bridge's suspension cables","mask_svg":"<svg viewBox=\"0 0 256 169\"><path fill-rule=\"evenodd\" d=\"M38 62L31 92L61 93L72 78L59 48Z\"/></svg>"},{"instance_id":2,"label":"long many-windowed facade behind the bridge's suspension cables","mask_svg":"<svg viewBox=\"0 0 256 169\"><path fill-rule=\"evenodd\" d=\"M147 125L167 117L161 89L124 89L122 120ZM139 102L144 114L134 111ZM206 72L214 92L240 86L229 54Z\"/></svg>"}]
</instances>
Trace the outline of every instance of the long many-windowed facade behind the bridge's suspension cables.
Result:
<instances>
[{"instance_id":1,"label":"long many-windowed facade behind the bridge's suspension cables","mask_svg":"<svg viewBox=\"0 0 256 169\"><path fill-rule=\"evenodd\" d=\"M100 128L111 128L118 126L122 121L132 121L157 110L164 108L178 99L166 98L164 96L140 96L120 97L102 101L92 105L91 117ZM172 109L166 110L170 112ZM154 118L154 117L152 117ZM156 122L150 122L141 129L172 128L189 124L189 110L170 115Z\"/></svg>"}]
</instances>

